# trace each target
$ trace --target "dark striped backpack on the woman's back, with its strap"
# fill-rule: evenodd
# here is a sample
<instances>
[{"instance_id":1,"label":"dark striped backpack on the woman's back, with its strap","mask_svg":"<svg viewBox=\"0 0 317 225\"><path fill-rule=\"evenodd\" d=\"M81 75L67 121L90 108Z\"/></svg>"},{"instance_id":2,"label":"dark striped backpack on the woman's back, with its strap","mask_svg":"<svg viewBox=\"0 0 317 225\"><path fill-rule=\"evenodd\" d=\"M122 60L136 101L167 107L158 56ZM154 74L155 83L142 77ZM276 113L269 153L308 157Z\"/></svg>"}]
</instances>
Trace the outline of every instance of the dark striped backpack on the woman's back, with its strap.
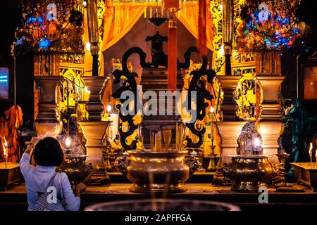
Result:
<instances>
[{"instance_id":1,"label":"dark striped backpack on the woman's back, with its strap","mask_svg":"<svg viewBox=\"0 0 317 225\"><path fill-rule=\"evenodd\" d=\"M60 198L58 198L58 196L51 196L52 191L48 192L49 187L54 186L53 184L54 184L54 179L56 174L58 173L55 172L53 176L51 176L51 179L49 180L49 184L46 187L46 192L38 193L39 195L37 196L37 199L35 200L33 211L68 211L67 205L64 202L62 185L60 185L60 191L59 191ZM61 174L59 174L59 179L61 181Z\"/></svg>"}]
</instances>

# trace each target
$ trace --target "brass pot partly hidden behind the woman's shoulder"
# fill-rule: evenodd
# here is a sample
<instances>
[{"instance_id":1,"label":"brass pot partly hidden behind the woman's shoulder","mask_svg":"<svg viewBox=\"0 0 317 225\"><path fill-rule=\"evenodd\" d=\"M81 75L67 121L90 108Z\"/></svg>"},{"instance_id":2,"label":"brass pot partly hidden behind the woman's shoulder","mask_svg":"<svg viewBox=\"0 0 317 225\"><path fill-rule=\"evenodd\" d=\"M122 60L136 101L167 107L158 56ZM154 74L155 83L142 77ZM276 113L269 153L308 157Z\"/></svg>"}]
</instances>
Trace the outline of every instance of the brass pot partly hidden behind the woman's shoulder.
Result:
<instances>
[{"instance_id":1,"label":"brass pot partly hidden behind the woman's shoulder","mask_svg":"<svg viewBox=\"0 0 317 225\"><path fill-rule=\"evenodd\" d=\"M56 172L67 174L73 190L75 190L77 184L85 181L90 173L85 165L86 158L87 155L64 155L61 166L56 168Z\"/></svg>"}]
</instances>

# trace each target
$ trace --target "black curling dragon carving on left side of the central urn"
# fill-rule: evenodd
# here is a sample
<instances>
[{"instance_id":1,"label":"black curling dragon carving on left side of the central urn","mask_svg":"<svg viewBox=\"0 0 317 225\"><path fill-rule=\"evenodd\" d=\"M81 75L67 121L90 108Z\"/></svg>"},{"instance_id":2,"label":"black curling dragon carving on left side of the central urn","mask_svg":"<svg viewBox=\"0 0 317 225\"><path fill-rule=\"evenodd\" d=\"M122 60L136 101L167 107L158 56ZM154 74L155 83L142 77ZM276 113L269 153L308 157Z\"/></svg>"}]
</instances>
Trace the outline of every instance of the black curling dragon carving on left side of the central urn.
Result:
<instances>
[{"instance_id":1,"label":"black curling dragon carving on left side of the central urn","mask_svg":"<svg viewBox=\"0 0 317 225\"><path fill-rule=\"evenodd\" d=\"M137 115L137 108L140 108L139 106L141 106L142 108L142 103L137 101L137 82L135 81L135 77L138 77L137 73L130 72L127 66L128 58L134 53L137 53L139 55L142 68L147 68L150 66L149 63L145 63L145 58L147 57L147 55L144 53L144 51L142 51L142 49L140 49L139 47L133 47L129 49L128 51L126 51L123 55L122 70L117 69L113 71L113 76L116 78L114 82L115 84L118 84L120 82L120 79L123 79L123 85L120 86L120 88L118 88L116 92L112 94L113 98L118 98L120 103L125 102L127 98L122 98L121 96L123 91L132 91L135 96L135 99L134 99L135 105L134 105L133 115L129 115L129 114L123 115L122 110L120 110L122 105L120 104L116 105L116 108L118 108L119 110L119 117L121 121L128 122L128 131L123 131L122 124L120 124L120 128L119 128L120 143L121 143L121 146L125 148L125 150L135 149L137 147L136 140L133 140L132 143L130 143L130 145L128 145L125 140L128 138L128 136L133 134L133 132L137 129L137 124L133 122L133 117L134 115Z\"/></svg>"}]
</instances>

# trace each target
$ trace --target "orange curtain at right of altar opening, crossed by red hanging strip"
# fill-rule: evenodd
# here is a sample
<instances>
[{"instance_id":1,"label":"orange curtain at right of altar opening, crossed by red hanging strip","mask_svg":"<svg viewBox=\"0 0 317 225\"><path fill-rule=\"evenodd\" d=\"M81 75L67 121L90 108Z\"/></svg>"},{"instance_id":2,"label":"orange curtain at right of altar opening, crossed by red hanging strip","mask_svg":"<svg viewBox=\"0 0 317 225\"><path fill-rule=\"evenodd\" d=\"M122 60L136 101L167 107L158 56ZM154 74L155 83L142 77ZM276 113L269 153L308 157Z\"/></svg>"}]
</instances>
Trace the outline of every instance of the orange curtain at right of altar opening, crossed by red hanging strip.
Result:
<instances>
[{"instance_id":1,"label":"orange curtain at right of altar opening, crossed by red hanging strip","mask_svg":"<svg viewBox=\"0 0 317 225\"><path fill-rule=\"evenodd\" d=\"M206 46L213 51L213 18L209 1L206 4ZM175 16L198 39L198 4L196 2L184 2L182 9L175 13Z\"/></svg>"}]
</instances>

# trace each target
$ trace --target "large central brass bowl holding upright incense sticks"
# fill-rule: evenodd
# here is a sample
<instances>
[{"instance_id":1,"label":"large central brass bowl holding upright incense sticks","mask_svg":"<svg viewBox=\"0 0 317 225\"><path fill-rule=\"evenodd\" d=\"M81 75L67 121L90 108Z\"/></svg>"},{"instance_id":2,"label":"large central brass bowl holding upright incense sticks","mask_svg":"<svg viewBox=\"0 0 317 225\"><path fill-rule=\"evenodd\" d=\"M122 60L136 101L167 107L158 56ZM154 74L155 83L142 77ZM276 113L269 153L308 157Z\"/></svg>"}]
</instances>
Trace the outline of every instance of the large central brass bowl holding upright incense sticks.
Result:
<instances>
[{"instance_id":1,"label":"large central brass bowl holding upright incense sticks","mask_svg":"<svg viewBox=\"0 0 317 225\"><path fill-rule=\"evenodd\" d=\"M128 151L130 163L120 161L117 169L133 182L129 191L136 193L180 193L187 191L189 178L187 151Z\"/></svg>"}]
</instances>

